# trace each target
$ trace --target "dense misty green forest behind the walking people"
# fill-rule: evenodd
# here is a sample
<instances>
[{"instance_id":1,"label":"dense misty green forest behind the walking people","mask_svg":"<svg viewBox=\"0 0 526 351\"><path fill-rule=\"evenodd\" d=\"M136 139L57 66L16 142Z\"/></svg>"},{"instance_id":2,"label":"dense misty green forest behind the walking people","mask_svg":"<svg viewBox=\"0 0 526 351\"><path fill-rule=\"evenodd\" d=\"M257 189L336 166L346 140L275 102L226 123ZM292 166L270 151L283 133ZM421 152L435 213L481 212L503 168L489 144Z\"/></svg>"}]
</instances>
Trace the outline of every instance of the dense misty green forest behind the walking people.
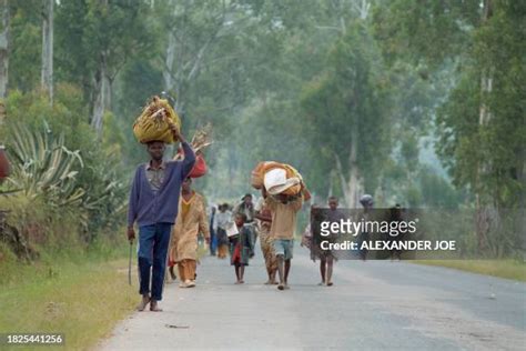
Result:
<instances>
[{"instance_id":1,"label":"dense misty green forest behind the walking people","mask_svg":"<svg viewBox=\"0 0 526 351\"><path fill-rule=\"evenodd\" d=\"M146 159L131 126L162 91L188 138L213 127L195 184L212 203L277 160L316 202L469 209L476 248L524 245L517 215L490 231L525 207L524 1L0 0L0 209L19 255L123 235Z\"/></svg>"}]
</instances>

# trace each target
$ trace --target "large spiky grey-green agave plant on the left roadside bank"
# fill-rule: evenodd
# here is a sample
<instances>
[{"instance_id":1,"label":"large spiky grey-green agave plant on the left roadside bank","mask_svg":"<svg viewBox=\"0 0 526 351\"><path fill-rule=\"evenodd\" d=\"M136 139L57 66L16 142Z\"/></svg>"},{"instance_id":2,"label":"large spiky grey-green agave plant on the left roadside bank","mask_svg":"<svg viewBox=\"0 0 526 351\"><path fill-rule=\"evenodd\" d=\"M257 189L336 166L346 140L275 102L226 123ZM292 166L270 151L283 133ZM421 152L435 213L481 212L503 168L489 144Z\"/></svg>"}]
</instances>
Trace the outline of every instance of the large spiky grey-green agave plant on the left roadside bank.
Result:
<instances>
[{"instance_id":1,"label":"large spiky grey-green agave plant on the left roadside bank","mask_svg":"<svg viewBox=\"0 0 526 351\"><path fill-rule=\"evenodd\" d=\"M83 167L79 151L64 146L63 136L53 138L45 132L31 132L23 126L13 128L9 154L12 188L21 189L29 198L44 197L51 205L64 207L82 202L84 190L77 182Z\"/></svg>"}]
</instances>

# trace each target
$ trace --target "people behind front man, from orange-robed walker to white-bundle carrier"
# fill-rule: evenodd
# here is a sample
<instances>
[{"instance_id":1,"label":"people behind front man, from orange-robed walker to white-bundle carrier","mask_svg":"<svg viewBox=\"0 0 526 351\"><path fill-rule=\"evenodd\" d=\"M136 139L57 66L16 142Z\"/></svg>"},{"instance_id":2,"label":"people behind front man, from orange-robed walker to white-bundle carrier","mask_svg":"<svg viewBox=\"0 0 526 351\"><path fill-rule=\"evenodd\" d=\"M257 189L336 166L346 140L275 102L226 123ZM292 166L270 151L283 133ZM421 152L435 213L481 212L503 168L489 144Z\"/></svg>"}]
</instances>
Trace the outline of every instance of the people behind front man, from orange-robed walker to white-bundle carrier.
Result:
<instances>
[{"instance_id":1,"label":"people behind front man, from orange-robed walker to white-bundle carrier","mask_svg":"<svg viewBox=\"0 0 526 351\"><path fill-rule=\"evenodd\" d=\"M276 284L280 290L289 289L289 272L293 255L293 239L296 227L296 213L301 210L303 200L301 195L269 197L262 190L257 203L253 203L252 194L247 193L232 211L227 203L220 204L218 210L213 207L210 211L209 225L205 228L206 212L201 195L196 195L195 208L191 208L194 215L186 217L185 183L183 183L183 199L181 213L175 221L170 244L169 267L171 279L175 280L173 265L188 265L192 260L191 277L184 269L179 269L181 288L195 285L195 262L199 234L209 243L210 254L219 259L230 255L230 263L234 267L235 283L244 283L244 270L250 259L254 257L257 238L265 260L267 281L265 284ZM192 193L195 193L192 191ZM184 223L183 225L179 224ZM193 224L192 224L193 223ZM183 238L183 240L181 240ZM188 239L188 241L186 241ZM191 241L191 244L190 244ZM192 253L192 258L190 258ZM192 275L194 274L194 275Z\"/></svg>"}]
</instances>

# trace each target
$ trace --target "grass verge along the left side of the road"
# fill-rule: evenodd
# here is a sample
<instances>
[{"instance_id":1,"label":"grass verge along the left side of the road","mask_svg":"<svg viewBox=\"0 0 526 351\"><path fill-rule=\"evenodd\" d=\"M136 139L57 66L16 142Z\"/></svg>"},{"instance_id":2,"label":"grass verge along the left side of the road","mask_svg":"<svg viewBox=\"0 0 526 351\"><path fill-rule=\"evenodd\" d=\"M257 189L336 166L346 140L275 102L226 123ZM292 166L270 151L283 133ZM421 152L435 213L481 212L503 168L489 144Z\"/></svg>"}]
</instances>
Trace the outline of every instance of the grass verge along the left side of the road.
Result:
<instances>
[{"instance_id":1,"label":"grass verge along the left side of the road","mask_svg":"<svg viewBox=\"0 0 526 351\"><path fill-rule=\"evenodd\" d=\"M45 349L92 348L136 303L136 269L132 269L130 287L122 253L109 260L100 251L74 260L43 258L33 264L4 255L0 261L0 333L62 333L64 345ZM1 349L10 350L6 345Z\"/></svg>"}]
</instances>

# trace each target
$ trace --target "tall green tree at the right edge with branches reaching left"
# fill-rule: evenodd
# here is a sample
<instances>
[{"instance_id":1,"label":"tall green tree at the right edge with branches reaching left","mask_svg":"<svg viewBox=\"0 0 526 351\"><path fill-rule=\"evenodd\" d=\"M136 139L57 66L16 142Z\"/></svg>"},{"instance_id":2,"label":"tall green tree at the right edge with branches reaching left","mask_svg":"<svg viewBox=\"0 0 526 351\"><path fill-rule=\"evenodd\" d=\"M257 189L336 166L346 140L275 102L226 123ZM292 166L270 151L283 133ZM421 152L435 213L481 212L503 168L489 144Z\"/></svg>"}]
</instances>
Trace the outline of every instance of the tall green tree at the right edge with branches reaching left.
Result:
<instances>
[{"instance_id":1,"label":"tall green tree at the right edge with branches reaching left","mask_svg":"<svg viewBox=\"0 0 526 351\"><path fill-rule=\"evenodd\" d=\"M398 0L378 8L375 18L377 38L393 61L408 58L435 70L455 64L452 92L436 119L437 151L455 184L475 195L478 247L486 248L487 223L499 223L504 208L524 201L525 87L519 82L526 7L505 0L482 6Z\"/></svg>"}]
</instances>

